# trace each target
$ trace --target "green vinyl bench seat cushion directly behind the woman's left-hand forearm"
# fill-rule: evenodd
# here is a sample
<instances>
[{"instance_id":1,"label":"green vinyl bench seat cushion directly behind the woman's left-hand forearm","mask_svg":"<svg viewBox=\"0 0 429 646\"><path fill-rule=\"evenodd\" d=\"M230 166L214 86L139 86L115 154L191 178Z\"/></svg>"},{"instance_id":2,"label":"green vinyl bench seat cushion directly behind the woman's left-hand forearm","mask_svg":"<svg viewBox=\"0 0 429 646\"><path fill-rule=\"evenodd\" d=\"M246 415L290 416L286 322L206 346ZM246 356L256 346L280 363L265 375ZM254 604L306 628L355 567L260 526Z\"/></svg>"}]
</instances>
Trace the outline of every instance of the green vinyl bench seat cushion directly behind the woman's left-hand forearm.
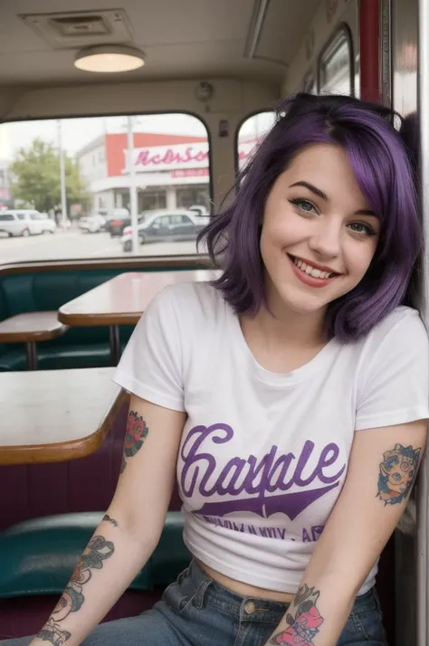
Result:
<instances>
[{"instance_id":1,"label":"green vinyl bench seat cushion directly behind the woman's left-hand forearm","mask_svg":"<svg viewBox=\"0 0 429 646\"><path fill-rule=\"evenodd\" d=\"M0 599L62 594L103 512L81 512L25 520L0 534ZM167 512L158 545L131 590L165 587L189 565L183 516Z\"/></svg>"}]
</instances>

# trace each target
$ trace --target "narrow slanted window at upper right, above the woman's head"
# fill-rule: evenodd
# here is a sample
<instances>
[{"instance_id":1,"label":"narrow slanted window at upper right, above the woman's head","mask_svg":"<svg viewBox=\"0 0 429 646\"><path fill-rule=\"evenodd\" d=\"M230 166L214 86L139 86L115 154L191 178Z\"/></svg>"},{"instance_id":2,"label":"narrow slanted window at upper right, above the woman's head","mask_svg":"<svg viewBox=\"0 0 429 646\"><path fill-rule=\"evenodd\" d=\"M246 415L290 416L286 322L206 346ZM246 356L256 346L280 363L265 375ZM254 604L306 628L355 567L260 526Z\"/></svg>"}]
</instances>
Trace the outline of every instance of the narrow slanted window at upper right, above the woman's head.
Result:
<instances>
[{"instance_id":1,"label":"narrow slanted window at upper right, above the woman's head","mask_svg":"<svg viewBox=\"0 0 429 646\"><path fill-rule=\"evenodd\" d=\"M355 92L353 43L350 30L342 24L319 56L319 92L348 94Z\"/></svg>"}]
</instances>

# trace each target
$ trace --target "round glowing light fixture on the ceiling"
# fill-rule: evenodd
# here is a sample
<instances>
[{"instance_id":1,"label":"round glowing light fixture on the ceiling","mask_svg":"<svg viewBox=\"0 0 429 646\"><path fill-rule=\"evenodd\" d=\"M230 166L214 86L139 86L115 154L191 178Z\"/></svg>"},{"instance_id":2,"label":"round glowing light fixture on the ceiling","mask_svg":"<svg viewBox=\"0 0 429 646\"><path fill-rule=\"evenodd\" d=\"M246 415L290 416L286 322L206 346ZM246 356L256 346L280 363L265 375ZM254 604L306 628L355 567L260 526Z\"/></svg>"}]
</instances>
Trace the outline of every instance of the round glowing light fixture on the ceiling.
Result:
<instances>
[{"instance_id":1,"label":"round glowing light fixture on the ceiling","mask_svg":"<svg viewBox=\"0 0 429 646\"><path fill-rule=\"evenodd\" d=\"M94 45L81 49L74 59L78 70L114 73L138 70L145 64L143 52L129 45Z\"/></svg>"}]
</instances>

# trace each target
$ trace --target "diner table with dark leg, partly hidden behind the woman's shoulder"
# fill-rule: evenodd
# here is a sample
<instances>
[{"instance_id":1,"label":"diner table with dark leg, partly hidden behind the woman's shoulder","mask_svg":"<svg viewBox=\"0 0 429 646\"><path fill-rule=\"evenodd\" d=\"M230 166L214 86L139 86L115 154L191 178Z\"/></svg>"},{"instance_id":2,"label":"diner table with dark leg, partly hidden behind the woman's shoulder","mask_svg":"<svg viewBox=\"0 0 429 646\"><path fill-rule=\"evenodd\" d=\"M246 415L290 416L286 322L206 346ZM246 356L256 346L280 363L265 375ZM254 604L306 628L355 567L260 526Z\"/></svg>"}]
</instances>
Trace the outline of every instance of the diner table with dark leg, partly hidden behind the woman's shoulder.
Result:
<instances>
[{"instance_id":1,"label":"diner table with dark leg, partly hidden behind the woman's shoulder","mask_svg":"<svg viewBox=\"0 0 429 646\"><path fill-rule=\"evenodd\" d=\"M58 319L68 326L109 326L110 359L120 357L119 325L136 325L159 290L178 282L214 280L216 270L128 271L101 283L58 310Z\"/></svg>"}]
</instances>

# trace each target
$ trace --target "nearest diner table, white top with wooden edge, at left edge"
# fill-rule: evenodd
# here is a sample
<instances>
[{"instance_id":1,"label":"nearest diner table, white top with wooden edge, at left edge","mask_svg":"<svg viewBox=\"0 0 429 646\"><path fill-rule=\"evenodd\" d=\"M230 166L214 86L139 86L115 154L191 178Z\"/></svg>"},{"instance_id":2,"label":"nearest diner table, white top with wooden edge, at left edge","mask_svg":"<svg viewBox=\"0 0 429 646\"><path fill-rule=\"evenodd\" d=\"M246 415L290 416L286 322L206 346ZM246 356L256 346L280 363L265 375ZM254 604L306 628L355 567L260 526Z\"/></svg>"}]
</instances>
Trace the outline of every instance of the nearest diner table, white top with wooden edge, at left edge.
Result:
<instances>
[{"instance_id":1,"label":"nearest diner table, white top with wooden edge, at left edge","mask_svg":"<svg viewBox=\"0 0 429 646\"><path fill-rule=\"evenodd\" d=\"M101 444L129 394L114 368L0 373L0 464L76 460Z\"/></svg>"}]
</instances>

